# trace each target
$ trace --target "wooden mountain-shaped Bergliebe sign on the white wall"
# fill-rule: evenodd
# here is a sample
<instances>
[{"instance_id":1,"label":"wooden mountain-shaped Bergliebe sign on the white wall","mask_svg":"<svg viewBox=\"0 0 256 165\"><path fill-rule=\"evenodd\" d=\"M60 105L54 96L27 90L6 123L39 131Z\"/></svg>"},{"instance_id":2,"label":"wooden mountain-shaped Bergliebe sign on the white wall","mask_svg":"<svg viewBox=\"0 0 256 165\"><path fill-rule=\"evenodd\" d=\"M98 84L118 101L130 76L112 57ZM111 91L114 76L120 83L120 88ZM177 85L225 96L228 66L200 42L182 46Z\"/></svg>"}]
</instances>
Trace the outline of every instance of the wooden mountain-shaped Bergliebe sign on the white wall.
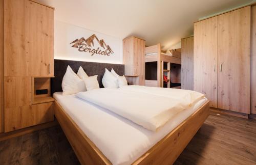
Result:
<instances>
[{"instance_id":1,"label":"wooden mountain-shaped Bergliebe sign on the white wall","mask_svg":"<svg viewBox=\"0 0 256 165\"><path fill-rule=\"evenodd\" d=\"M94 47L94 42L98 42L100 47ZM110 56L114 53L110 46L107 45L103 39L99 40L95 34L87 39L84 39L83 37L76 39L70 44L72 44L72 47L78 48L78 51L90 52L91 56L94 54Z\"/></svg>"}]
</instances>

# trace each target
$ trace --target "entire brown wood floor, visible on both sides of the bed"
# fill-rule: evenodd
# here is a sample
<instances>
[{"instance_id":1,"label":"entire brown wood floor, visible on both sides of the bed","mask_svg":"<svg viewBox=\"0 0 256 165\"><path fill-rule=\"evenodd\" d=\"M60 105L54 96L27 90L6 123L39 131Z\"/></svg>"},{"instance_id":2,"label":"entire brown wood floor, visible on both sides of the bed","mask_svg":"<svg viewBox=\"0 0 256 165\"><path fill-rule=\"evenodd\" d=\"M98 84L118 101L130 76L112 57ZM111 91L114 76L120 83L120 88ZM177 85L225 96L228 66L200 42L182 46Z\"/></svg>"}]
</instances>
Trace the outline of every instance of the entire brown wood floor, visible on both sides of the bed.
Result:
<instances>
[{"instance_id":1,"label":"entire brown wood floor, visible on both sides of the bed","mask_svg":"<svg viewBox=\"0 0 256 165\"><path fill-rule=\"evenodd\" d=\"M59 126L0 142L0 164L79 164ZM175 164L256 164L256 121L211 113Z\"/></svg>"}]
</instances>

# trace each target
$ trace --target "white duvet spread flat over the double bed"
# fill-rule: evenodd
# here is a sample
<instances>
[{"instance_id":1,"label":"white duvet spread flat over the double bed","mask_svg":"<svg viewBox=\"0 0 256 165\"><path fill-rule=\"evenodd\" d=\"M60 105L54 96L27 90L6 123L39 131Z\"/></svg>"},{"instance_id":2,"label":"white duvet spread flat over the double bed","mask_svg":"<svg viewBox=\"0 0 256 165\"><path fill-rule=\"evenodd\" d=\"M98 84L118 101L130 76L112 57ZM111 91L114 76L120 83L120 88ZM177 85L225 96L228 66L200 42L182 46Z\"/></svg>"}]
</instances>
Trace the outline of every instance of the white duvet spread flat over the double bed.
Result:
<instances>
[{"instance_id":1,"label":"white duvet spread flat over the double bed","mask_svg":"<svg viewBox=\"0 0 256 165\"><path fill-rule=\"evenodd\" d=\"M76 96L152 131L204 97L195 91L144 86L96 89Z\"/></svg>"}]
</instances>

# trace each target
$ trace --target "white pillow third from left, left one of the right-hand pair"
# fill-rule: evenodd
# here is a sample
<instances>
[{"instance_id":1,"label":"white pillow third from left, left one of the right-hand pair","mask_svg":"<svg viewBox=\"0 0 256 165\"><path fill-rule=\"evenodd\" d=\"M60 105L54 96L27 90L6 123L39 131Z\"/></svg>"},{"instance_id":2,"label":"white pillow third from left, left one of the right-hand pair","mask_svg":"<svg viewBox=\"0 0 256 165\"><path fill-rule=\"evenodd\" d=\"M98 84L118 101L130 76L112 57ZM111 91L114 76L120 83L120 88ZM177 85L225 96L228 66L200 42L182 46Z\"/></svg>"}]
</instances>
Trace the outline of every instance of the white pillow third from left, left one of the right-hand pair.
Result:
<instances>
[{"instance_id":1,"label":"white pillow third from left, left one of the right-hand pair","mask_svg":"<svg viewBox=\"0 0 256 165\"><path fill-rule=\"evenodd\" d=\"M118 79L108 69L105 68L105 73L102 78L104 88L118 88Z\"/></svg>"}]
</instances>

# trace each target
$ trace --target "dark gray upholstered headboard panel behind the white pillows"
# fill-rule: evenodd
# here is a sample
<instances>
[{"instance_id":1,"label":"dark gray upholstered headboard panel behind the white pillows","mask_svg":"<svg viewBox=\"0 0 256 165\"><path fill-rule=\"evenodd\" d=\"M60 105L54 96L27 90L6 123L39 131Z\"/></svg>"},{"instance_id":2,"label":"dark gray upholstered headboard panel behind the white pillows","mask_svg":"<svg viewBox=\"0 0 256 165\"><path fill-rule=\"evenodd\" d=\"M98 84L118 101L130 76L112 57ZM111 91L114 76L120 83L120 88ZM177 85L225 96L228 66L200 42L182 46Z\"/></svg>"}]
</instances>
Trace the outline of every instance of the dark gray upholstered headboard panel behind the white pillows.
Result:
<instances>
[{"instance_id":1,"label":"dark gray upholstered headboard panel behind the white pillows","mask_svg":"<svg viewBox=\"0 0 256 165\"><path fill-rule=\"evenodd\" d=\"M51 80L51 93L61 92L61 82L64 74L66 73L68 65L77 73L81 66L89 76L98 75L100 88L103 88L102 77L105 73L105 68L111 70L113 68L117 74L124 75L124 65L121 64L107 64L107 63L93 63L83 61L70 61L70 60L54 60L54 78Z\"/></svg>"}]
</instances>

